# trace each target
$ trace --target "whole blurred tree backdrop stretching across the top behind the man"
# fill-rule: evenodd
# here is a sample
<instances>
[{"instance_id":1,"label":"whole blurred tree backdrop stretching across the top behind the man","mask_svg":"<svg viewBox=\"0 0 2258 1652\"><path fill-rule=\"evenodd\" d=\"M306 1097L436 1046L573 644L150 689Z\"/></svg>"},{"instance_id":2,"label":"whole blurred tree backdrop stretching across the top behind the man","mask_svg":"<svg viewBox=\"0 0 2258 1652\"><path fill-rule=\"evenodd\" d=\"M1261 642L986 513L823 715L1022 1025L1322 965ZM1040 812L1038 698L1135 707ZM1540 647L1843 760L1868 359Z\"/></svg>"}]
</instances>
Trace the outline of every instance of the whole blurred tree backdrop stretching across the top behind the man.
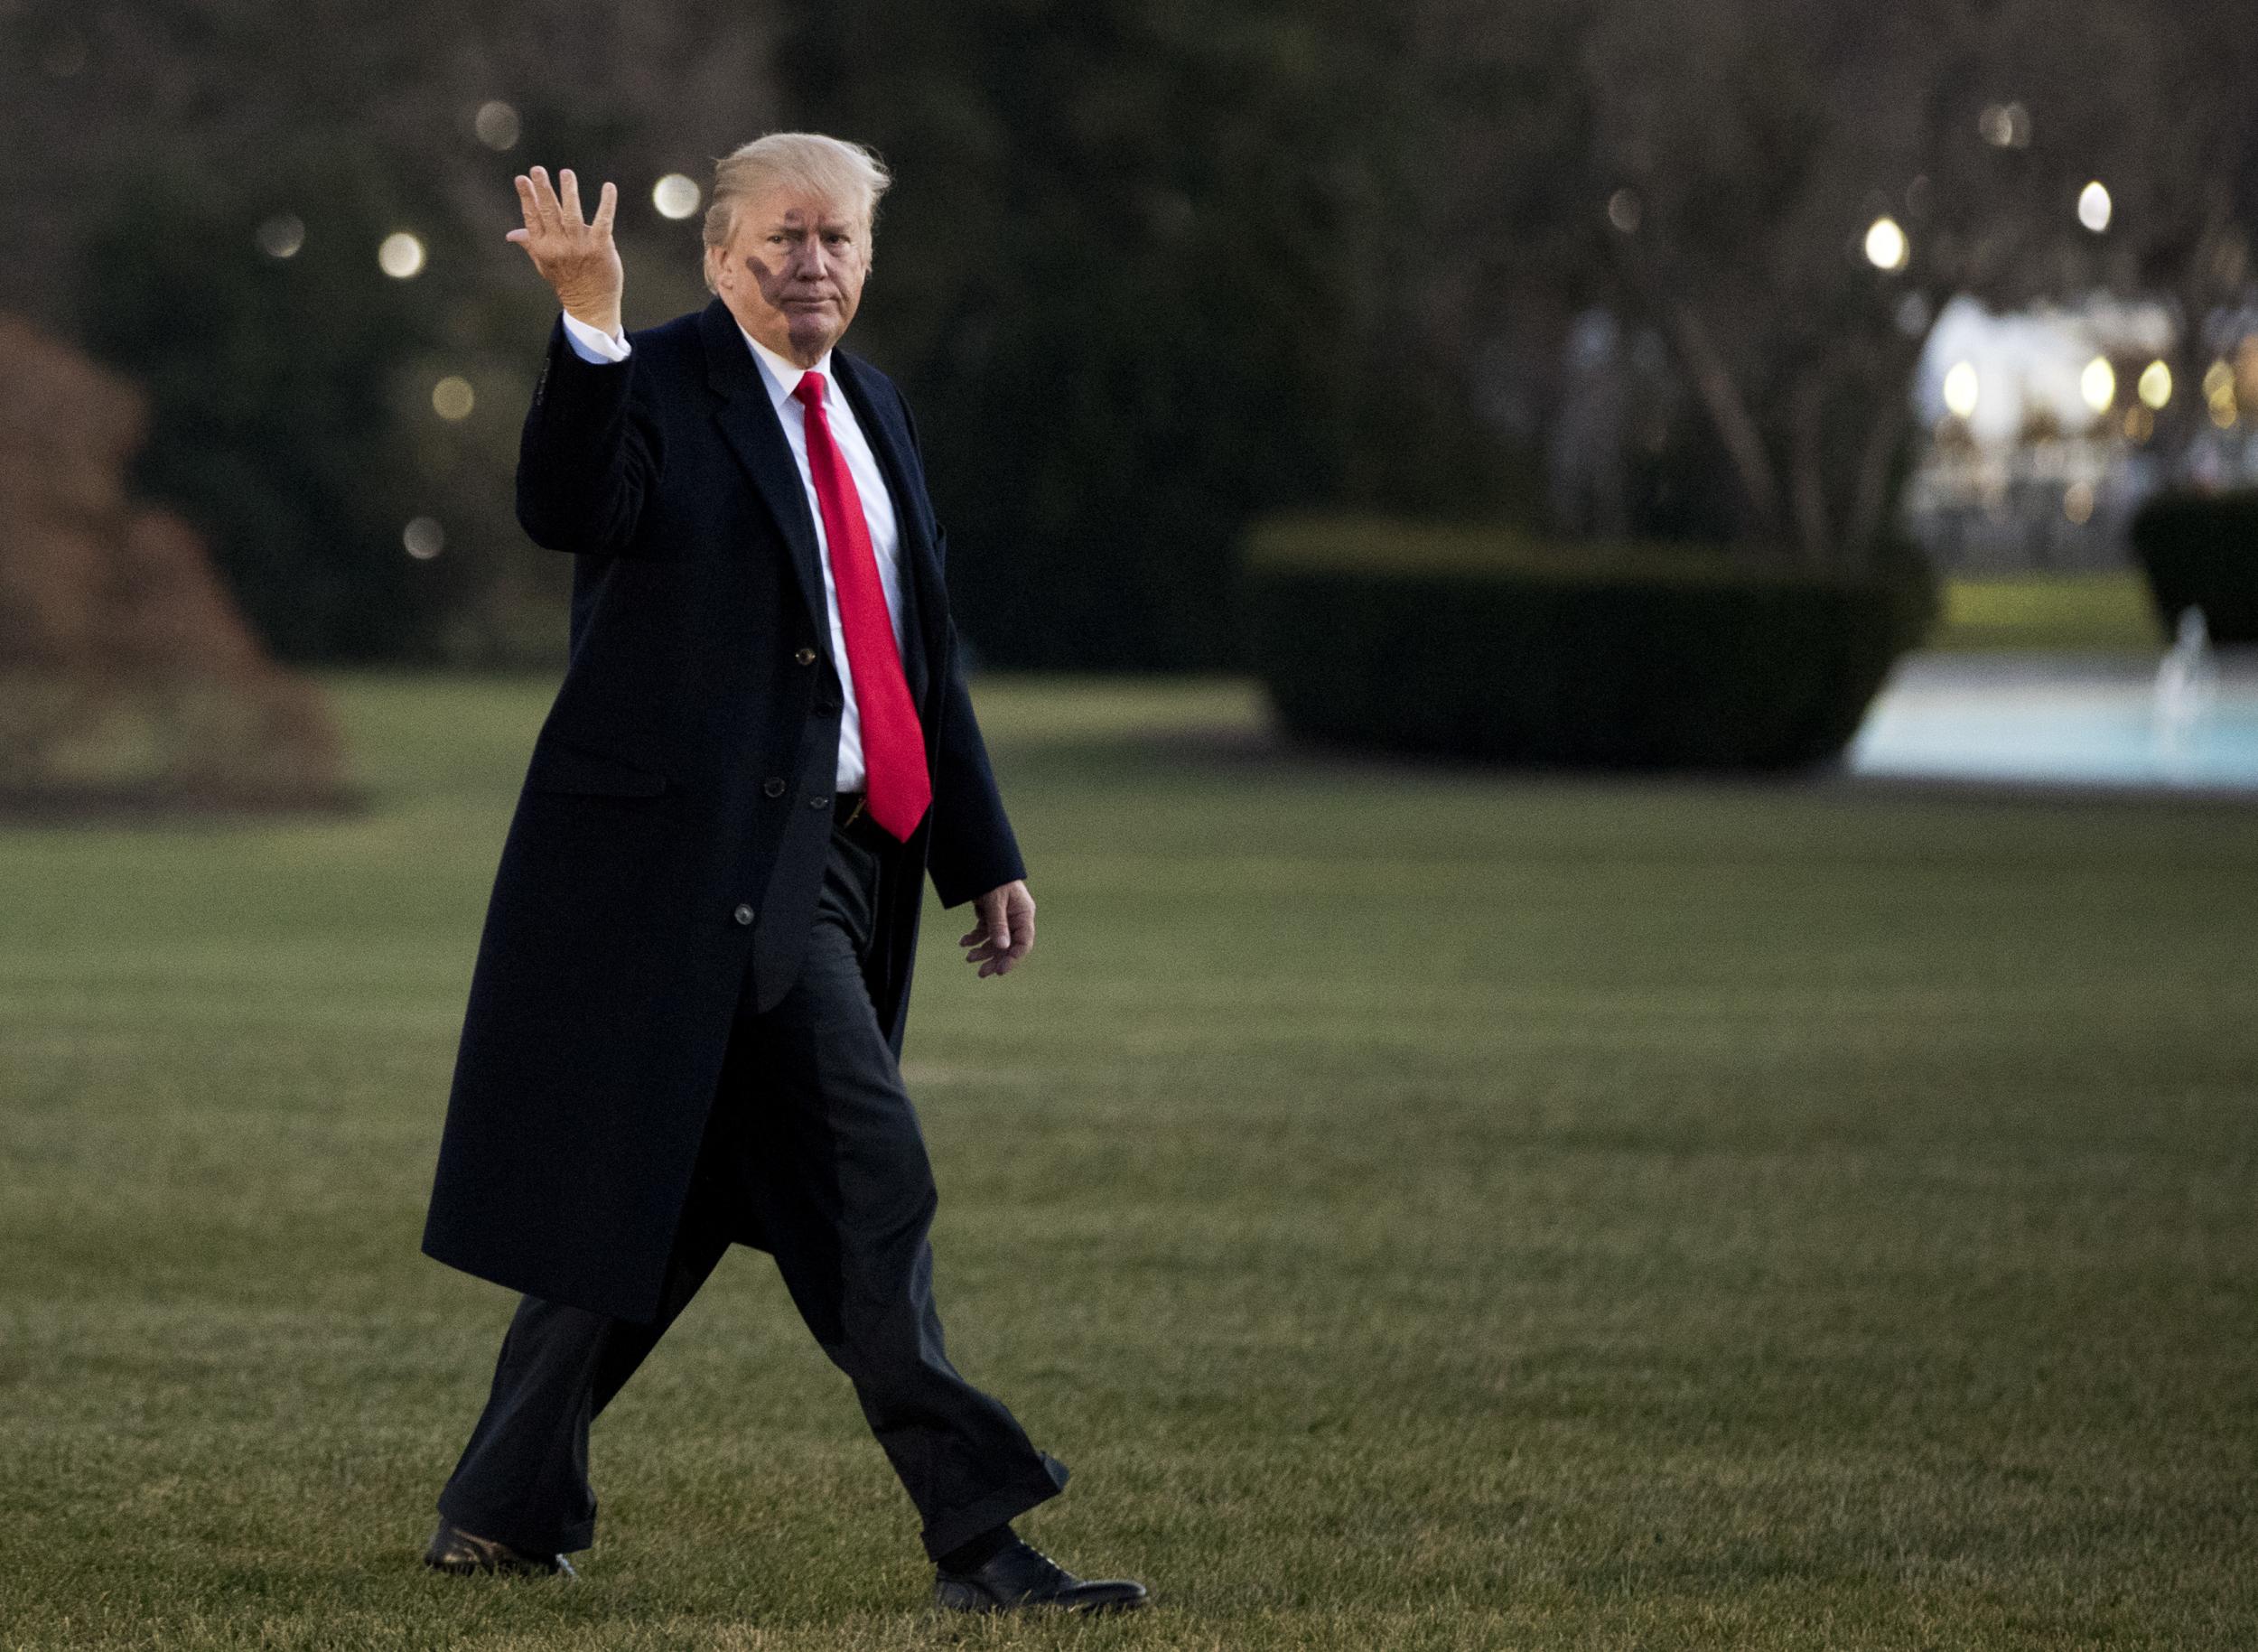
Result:
<instances>
[{"instance_id":1,"label":"whole blurred tree backdrop stretching across the top behind the man","mask_svg":"<svg viewBox=\"0 0 2258 1652\"><path fill-rule=\"evenodd\" d=\"M149 386L142 483L296 659L560 650L567 569L506 485L533 160L621 181L648 325L702 302L657 176L777 126L887 156L854 345L1014 666L1242 664L1274 512L1901 569L1949 298L2199 316L2258 217L2258 36L2222 5L11 0L0 38L0 305ZM2109 237L2073 212L2095 176Z\"/></svg>"}]
</instances>

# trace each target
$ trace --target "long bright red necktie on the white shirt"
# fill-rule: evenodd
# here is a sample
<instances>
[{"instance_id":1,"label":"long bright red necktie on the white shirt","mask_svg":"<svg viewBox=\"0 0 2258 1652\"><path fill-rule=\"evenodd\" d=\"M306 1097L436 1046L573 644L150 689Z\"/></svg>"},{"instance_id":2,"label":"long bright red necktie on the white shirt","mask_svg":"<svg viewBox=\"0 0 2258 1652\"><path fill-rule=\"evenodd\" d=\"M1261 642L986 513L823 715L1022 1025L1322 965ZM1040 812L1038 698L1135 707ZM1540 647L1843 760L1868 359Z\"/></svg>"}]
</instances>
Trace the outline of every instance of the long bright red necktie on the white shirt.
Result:
<instances>
[{"instance_id":1,"label":"long bright red necktie on the white shirt","mask_svg":"<svg viewBox=\"0 0 2258 1652\"><path fill-rule=\"evenodd\" d=\"M863 494L856 492L840 445L831 440L831 420L824 418L824 375L802 375L793 395L808 411L808 476L815 481L815 506L824 515L831 585L840 598L840 630L847 632L847 673L854 677L854 704L863 718L867 776L863 785L869 790L869 817L908 842L917 821L926 817L926 806L933 803L926 731L917 722L910 682L901 675L894 623L885 616L885 587L878 585L878 553L869 544Z\"/></svg>"}]
</instances>

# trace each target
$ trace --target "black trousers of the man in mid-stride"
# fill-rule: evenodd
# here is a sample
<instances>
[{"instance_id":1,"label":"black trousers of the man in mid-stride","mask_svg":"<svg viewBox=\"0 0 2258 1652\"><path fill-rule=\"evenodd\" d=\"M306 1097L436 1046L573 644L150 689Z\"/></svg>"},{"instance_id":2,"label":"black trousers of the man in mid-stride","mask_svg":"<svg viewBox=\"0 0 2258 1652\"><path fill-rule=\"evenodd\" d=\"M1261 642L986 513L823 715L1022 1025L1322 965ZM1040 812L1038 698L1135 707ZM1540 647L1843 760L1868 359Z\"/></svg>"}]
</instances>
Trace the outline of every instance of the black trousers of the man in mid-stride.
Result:
<instances>
[{"instance_id":1,"label":"black trousers of the man in mid-stride","mask_svg":"<svg viewBox=\"0 0 2258 1652\"><path fill-rule=\"evenodd\" d=\"M933 1167L863 982L881 882L874 828L831 835L799 979L765 1013L738 1004L698 1180L644 1325L524 1298L485 1415L440 1492L452 1523L528 1553L587 1548L587 1426L704 1284L750 1210L815 1341L924 1517L926 1553L1000 1526L1066 1485L942 1350L933 1307Z\"/></svg>"}]
</instances>

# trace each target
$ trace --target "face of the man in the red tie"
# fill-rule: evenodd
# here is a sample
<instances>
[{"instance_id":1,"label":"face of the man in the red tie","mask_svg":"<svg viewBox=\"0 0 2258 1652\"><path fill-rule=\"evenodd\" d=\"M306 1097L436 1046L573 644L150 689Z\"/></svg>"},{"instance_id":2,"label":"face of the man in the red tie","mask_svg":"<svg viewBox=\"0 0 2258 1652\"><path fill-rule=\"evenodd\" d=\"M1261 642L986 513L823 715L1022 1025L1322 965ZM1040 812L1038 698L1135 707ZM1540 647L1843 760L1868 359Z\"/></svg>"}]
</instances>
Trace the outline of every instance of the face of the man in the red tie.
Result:
<instances>
[{"instance_id":1,"label":"face of the man in the red tie","mask_svg":"<svg viewBox=\"0 0 2258 1652\"><path fill-rule=\"evenodd\" d=\"M863 302L863 226L835 203L779 187L736 210L729 246L707 253L714 291L736 323L804 368L838 343Z\"/></svg>"}]
</instances>

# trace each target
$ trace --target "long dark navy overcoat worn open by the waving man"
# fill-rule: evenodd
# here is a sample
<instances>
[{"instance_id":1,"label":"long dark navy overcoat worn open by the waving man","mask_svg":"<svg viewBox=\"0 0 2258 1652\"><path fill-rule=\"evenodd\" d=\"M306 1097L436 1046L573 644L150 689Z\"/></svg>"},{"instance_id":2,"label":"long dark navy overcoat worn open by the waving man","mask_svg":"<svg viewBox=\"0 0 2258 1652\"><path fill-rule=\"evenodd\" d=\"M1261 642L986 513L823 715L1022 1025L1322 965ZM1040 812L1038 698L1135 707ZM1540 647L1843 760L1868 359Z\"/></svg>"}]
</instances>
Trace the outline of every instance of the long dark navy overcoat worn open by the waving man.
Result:
<instances>
[{"instance_id":1,"label":"long dark navy overcoat worn open by the waving man","mask_svg":"<svg viewBox=\"0 0 2258 1652\"><path fill-rule=\"evenodd\" d=\"M815 521L736 320L716 300L632 343L594 366L558 325L526 413L517 517L578 553L571 661L495 876L425 1250L648 1320L738 991L750 970L774 1004L813 928L842 693ZM957 905L1025 871L910 411L878 370L831 361L901 519L903 666L933 774L905 853ZM869 964L896 1052L921 889L896 880Z\"/></svg>"}]
</instances>

